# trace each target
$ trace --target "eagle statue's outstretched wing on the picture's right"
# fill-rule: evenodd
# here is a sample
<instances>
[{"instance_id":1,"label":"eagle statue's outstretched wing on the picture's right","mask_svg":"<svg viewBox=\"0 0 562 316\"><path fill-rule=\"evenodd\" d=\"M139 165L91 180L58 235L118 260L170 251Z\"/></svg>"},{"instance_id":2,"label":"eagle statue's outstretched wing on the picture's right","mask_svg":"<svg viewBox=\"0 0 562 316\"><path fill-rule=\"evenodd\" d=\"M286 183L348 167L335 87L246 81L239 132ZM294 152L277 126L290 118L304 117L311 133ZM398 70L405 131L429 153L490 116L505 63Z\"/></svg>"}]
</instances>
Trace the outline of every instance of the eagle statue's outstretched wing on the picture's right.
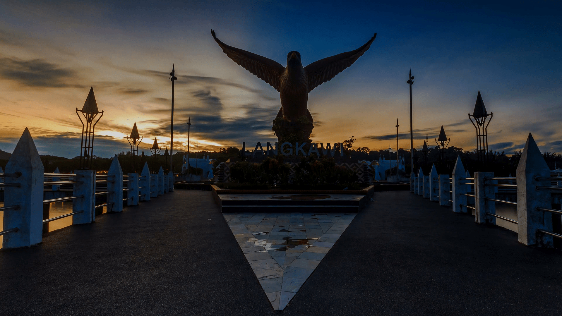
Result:
<instances>
[{"instance_id":1,"label":"eagle statue's outstretched wing on the picture's right","mask_svg":"<svg viewBox=\"0 0 562 316\"><path fill-rule=\"evenodd\" d=\"M344 69L351 66L357 58L361 57L371 43L377 37L377 33L365 45L355 49L355 51L345 52L331 57L326 57L305 67L306 75L309 78L309 92L320 84L327 82L341 73Z\"/></svg>"}]
</instances>

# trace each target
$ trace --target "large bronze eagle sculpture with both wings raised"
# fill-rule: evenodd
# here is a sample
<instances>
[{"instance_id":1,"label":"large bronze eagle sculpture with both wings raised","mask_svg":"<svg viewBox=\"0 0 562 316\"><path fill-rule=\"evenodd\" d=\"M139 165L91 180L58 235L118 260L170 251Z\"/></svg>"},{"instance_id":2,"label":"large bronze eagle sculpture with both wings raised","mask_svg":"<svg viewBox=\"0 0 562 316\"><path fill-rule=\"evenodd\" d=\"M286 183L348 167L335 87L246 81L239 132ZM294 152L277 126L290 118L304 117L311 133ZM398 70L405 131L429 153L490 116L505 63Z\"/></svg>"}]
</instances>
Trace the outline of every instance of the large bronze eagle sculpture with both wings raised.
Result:
<instances>
[{"instance_id":1,"label":"large bronze eagle sculpture with both wings raised","mask_svg":"<svg viewBox=\"0 0 562 316\"><path fill-rule=\"evenodd\" d=\"M351 66L369 49L377 37L375 33L367 43L355 51L327 57L312 62L306 67L302 66L301 54L292 51L287 54L287 67L283 67L277 61L226 45L216 37L214 30L211 30L211 34L226 56L279 91L281 109L277 114L278 118L295 121L306 116L310 123L312 123L312 115L307 109L309 92Z\"/></svg>"}]
</instances>

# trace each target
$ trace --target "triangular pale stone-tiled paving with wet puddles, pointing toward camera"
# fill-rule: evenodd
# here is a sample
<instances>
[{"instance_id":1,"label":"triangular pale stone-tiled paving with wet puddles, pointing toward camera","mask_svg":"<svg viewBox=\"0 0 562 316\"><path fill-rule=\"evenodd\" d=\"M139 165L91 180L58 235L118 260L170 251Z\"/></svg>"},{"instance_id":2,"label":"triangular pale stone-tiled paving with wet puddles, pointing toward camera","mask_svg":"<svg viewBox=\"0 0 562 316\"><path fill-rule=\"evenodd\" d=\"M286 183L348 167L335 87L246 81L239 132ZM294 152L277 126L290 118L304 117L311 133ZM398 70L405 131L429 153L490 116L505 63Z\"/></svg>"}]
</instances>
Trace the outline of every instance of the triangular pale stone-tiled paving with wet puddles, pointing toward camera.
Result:
<instances>
[{"instance_id":1,"label":"triangular pale stone-tiled paving with wet puddles, pointing toward camera","mask_svg":"<svg viewBox=\"0 0 562 316\"><path fill-rule=\"evenodd\" d=\"M356 213L223 213L275 310L283 310Z\"/></svg>"}]
</instances>

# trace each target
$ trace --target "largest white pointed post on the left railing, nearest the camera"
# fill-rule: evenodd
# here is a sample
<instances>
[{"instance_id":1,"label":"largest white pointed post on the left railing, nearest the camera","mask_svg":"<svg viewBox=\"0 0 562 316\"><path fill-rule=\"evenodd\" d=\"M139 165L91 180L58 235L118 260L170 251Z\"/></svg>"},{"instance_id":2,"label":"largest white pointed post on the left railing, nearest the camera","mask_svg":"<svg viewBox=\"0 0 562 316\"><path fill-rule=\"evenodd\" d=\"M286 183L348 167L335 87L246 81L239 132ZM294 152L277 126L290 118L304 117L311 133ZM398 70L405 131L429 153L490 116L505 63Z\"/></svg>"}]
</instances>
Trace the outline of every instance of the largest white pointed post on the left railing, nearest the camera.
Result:
<instances>
[{"instance_id":1,"label":"largest white pointed post on the left railing, nearest the camera","mask_svg":"<svg viewBox=\"0 0 562 316\"><path fill-rule=\"evenodd\" d=\"M25 128L6 164L5 233L2 235L5 249L29 247L42 241L44 172L37 147L28 128Z\"/></svg>"}]
</instances>

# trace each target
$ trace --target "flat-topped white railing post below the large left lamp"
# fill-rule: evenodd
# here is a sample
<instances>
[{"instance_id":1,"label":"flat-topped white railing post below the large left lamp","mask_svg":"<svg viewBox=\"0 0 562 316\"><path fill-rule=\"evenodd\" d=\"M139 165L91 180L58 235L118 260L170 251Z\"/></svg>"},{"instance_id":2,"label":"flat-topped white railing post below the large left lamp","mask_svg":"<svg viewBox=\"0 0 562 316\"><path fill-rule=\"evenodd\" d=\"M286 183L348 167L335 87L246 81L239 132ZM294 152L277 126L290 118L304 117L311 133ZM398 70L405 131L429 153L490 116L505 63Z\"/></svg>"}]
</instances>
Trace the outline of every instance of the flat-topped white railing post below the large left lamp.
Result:
<instances>
[{"instance_id":1,"label":"flat-topped white railing post below the large left lamp","mask_svg":"<svg viewBox=\"0 0 562 316\"><path fill-rule=\"evenodd\" d=\"M92 223L96 219L96 171L94 170L74 170L76 177L74 180L74 196L72 201L72 224Z\"/></svg>"}]
</instances>

